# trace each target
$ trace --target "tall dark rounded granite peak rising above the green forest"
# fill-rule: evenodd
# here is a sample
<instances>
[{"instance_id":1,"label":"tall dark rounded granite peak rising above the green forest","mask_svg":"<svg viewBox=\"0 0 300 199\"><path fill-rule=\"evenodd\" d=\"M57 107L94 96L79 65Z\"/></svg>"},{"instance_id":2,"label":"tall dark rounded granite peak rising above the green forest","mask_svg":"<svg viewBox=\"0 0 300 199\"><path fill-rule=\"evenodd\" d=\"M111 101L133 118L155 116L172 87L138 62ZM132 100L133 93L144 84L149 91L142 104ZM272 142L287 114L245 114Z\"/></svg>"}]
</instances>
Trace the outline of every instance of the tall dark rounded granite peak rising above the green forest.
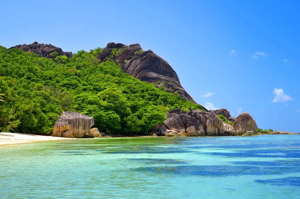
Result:
<instances>
[{"instance_id":1,"label":"tall dark rounded granite peak rising above the green forest","mask_svg":"<svg viewBox=\"0 0 300 199\"><path fill-rule=\"evenodd\" d=\"M139 44L125 46L123 44L108 43L103 52L97 56L101 62L111 59L112 49L122 50L112 59L121 65L122 70L145 82L154 83L156 87L164 87L167 92L177 92L185 100L196 103L182 88L179 78L172 67L151 50L143 51Z\"/></svg>"}]
</instances>

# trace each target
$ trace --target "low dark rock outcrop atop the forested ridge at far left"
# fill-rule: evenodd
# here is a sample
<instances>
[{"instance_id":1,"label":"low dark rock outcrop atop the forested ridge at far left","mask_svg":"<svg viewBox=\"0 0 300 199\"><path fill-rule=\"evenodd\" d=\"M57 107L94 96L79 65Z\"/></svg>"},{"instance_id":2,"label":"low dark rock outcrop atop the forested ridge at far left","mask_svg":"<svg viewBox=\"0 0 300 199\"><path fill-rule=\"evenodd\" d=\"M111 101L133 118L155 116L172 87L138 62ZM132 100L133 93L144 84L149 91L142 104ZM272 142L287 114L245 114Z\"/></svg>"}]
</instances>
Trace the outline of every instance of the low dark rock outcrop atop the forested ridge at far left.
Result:
<instances>
[{"instance_id":1,"label":"low dark rock outcrop atop the forested ridge at far left","mask_svg":"<svg viewBox=\"0 0 300 199\"><path fill-rule=\"evenodd\" d=\"M67 58L72 57L72 52L63 52L61 48L58 48L56 46L52 46L51 44L38 44L37 42L34 42L32 44L23 44L23 45L16 45L11 48L18 48L25 52L32 52L37 54L39 57L46 57L46 58L54 58L54 56L50 55L53 52L57 52L59 55L65 55ZM9 49L11 49L9 48Z\"/></svg>"}]
</instances>

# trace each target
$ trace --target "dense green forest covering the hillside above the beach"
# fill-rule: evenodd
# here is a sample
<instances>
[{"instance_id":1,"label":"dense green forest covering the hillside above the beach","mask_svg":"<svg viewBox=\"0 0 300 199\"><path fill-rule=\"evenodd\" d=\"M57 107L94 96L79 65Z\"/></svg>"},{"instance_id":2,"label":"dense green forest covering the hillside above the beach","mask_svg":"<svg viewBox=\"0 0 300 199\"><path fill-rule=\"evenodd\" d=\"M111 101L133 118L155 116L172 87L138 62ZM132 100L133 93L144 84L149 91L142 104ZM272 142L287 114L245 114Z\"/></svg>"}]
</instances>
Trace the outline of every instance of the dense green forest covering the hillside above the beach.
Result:
<instances>
[{"instance_id":1,"label":"dense green forest covering the hillside above the beach","mask_svg":"<svg viewBox=\"0 0 300 199\"><path fill-rule=\"evenodd\" d=\"M123 73L114 62L99 63L101 51L52 60L0 46L0 129L50 134L62 111L76 111L94 117L103 132L141 135L162 124L169 109L202 108Z\"/></svg>"}]
</instances>

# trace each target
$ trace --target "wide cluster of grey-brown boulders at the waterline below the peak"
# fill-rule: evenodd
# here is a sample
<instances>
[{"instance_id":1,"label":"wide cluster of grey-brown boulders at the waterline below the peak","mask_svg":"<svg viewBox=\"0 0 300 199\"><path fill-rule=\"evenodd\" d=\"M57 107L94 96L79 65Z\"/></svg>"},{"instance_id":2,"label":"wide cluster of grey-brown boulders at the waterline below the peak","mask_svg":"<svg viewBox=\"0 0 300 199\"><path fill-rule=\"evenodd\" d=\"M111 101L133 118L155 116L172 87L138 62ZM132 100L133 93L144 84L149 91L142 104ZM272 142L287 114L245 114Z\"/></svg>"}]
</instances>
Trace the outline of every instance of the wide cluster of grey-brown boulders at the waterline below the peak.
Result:
<instances>
[{"instance_id":1,"label":"wide cluster of grey-brown boulders at the waterline below the peak","mask_svg":"<svg viewBox=\"0 0 300 199\"><path fill-rule=\"evenodd\" d=\"M180 109L171 110L166 114L167 119L163 125L156 126L156 135L184 133L187 136L227 136L236 135L235 129L219 119L213 111L191 110L188 112Z\"/></svg>"}]
</instances>

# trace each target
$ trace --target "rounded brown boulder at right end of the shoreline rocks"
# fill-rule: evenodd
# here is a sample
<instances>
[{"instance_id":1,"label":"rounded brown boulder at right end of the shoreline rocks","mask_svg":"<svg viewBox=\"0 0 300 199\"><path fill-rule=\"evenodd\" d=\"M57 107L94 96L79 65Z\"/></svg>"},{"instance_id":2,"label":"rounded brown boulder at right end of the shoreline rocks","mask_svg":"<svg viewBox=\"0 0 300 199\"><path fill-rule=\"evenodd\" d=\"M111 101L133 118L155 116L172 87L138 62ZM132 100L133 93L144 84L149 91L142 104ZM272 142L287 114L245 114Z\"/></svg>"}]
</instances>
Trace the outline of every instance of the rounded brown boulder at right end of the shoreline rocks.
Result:
<instances>
[{"instance_id":1,"label":"rounded brown boulder at right end of the shoreline rocks","mask_svg":"<svg viewBox=\"0 0 300 199\"><path fill-rule=\"evenodd\" d=\"M241 113L233 123L233 128L237 135L242 135L247 131L253 131L257 133L257 125L255 120L246 112Z\"/></svg>"}]
</instances>

